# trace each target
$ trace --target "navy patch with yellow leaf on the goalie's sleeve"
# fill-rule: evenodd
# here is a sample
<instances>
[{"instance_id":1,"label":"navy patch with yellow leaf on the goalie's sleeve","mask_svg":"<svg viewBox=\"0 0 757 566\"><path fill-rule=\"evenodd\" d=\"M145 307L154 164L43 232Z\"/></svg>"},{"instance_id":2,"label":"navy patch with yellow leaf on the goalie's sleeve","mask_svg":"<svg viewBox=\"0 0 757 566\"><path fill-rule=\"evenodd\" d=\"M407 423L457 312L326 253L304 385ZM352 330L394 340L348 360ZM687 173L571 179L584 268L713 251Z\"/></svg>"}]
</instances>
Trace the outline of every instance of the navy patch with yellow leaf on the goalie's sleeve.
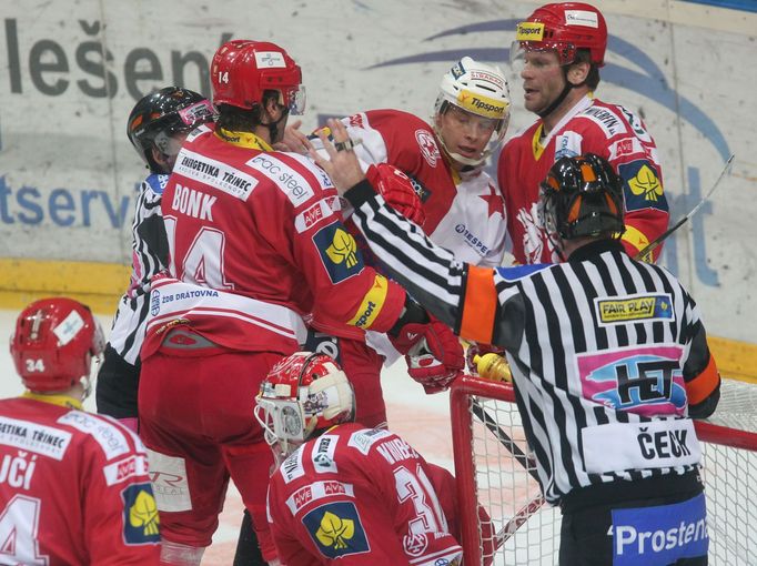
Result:
<instances>
[{"instance_id":1,"label":"navy patch with yellow leaf on the goalie's sleeve","mask_svg":"<svg viewBox=\"0 0 757 566\"><path fill-rule=\"evenodd\" d=\"M302 517L302 524L326 558L371 552L360 514L352 502L321 505Z\"/></svg>"}]
</instances>

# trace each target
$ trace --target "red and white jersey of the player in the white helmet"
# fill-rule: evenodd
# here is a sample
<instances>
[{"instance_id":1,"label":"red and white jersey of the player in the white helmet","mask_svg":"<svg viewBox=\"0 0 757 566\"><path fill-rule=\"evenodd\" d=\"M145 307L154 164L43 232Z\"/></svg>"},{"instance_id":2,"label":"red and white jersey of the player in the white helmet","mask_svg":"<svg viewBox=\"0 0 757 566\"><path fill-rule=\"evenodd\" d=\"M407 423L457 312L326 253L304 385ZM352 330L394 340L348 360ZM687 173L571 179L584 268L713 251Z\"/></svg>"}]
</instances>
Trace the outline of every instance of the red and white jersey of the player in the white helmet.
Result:
<instances>
[{"instance_id":1,"label":"red and white jersey of the player in the white helmet","mask_svg":"<svg viewBox=\"0 0 757 566\"><path fill-rule=\"evenodd\" d=\"M457 174L444 159L433 129L400 110L369 110L342 120L365 166L390 163L415 181L426 213L424 232L460 261L498 266L505 251L502 196L483 169Z\"/></svg>"}]
</instances>

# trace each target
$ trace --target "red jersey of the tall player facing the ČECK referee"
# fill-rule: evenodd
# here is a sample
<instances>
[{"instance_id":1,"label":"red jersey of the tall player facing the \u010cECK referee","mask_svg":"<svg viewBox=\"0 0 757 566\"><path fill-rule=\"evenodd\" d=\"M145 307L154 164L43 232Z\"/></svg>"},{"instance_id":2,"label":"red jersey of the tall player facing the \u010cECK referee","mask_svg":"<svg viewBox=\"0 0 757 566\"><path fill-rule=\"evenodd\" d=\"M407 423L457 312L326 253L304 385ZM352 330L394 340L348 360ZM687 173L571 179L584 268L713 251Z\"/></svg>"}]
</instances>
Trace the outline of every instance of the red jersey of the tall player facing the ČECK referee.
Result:
<instances>
[{"instance_id":1,"label":"red jersey of the tall player facing the \u010cECK referee","mask_svg":"<svg viewBox=\"0 0 757 566\"><path fill-rule=\"evenodd\" d=\"M561 158L596 153L623 180L626 231L623 244L634 256L667 230L669 212L654 140L632 111L584 97L542 139L543 123L516 134L497 164L499 189L507 204L507 231L518 263L559 261L537 221L539 183ZM662 247L654 253L656 259Z\"/></svg>"}]
</instances>

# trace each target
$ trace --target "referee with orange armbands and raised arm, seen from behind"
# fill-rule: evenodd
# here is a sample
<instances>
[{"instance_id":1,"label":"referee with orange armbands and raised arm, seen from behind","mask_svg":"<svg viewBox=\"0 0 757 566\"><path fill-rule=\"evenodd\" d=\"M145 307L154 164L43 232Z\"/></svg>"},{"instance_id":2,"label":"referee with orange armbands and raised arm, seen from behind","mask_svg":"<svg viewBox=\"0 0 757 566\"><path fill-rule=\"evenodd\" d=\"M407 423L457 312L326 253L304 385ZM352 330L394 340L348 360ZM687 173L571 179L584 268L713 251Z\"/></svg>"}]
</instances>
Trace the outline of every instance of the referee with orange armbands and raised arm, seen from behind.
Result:
<instances>
[{"instance_id":1,"label":"referee with orange armbands and raised arm, seen from behind","mask_svg":"<svg viewBox=\"0 0 757 566\"><path fill-rule=\"evenodd\" d=\"M720 376L688 292L624 251L612 166L563 158L542 183L539 216L564 263L477 267L386 206L343 125L330 125L331 161L312 155L378 259L456 334L507 350L542 491L563 512L559 564L706 565L692 418L715 411Z\"/></svg>"}]
</instances>

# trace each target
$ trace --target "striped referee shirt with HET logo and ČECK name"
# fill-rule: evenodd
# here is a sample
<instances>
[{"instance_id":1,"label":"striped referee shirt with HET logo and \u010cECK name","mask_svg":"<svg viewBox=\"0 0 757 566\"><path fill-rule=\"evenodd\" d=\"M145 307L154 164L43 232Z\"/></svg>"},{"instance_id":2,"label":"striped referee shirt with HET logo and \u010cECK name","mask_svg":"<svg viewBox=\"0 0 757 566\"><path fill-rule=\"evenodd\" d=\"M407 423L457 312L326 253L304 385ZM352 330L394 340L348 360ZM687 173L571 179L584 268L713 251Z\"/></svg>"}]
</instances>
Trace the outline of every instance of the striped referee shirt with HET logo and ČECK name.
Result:
<instances>
[{"instance_id":1,"label":"striped referee shirt with HET logo and \u010cECK name","mask_svg":"<svg viewBox=\"0 0 757 566\"><path fill-rule=\"evenodd\" d=\"M597 240L568 262L463 264L375 194L345 194L378 259L467 340L507 350L545 498L698 466L689 416L707 416L719 375L694 300L663 267Z\"/></svg>"}]
</instances>

